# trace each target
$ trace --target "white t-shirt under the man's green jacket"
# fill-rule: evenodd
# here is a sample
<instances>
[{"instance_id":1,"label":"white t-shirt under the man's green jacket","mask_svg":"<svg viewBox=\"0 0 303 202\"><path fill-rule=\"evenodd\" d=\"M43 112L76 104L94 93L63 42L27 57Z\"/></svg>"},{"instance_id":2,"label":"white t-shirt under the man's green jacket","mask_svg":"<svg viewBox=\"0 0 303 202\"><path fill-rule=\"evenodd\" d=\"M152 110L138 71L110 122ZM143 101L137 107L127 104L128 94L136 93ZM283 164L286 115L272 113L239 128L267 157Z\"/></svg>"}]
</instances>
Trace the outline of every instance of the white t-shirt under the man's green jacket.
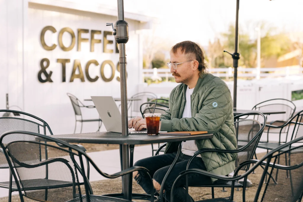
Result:
<instances>
[{"instance_id":1,"label":"white t-shirt under the man's green jacket","mask_svg":"<svg viewBox=\"0 0 303 202\"><path fill-rule=\"evenodd\" d=\"M191 94L194 91L195 88L189 89L187 86L185 98L185 108L182 114L182 118L191 118ZM182 149L181 152L188 156L193 156L196 151L198 151L198 147L195 140L190 140L186 142L182 142ZM201 155L198 155L198 157L201 157Z\"/></svg>"}]
</instances>

